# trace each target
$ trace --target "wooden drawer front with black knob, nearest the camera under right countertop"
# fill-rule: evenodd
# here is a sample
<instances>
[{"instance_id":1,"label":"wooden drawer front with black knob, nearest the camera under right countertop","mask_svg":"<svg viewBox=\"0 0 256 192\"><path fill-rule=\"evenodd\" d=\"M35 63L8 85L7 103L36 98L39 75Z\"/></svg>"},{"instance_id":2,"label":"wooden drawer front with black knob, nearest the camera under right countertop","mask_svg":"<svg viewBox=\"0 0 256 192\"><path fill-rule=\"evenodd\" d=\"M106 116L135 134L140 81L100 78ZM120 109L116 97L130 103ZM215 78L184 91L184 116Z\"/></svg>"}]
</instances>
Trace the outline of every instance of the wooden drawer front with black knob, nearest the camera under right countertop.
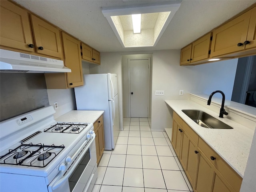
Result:
<instances>
[{"instance_id":1,"label":"wooden drawer front with black knob, nearest the camera under right countertop","mask_svg":"<svg viewBox=\"0 0 256 192\"><path fill-rule=\"evenodd\" d=\"M230 183L235 191L239 192L242 178L231 168L202 138L199 138L198 147L206 155L206 158L217 168L217 170L224 176L224 178ZM211 159L211 156L216 158Z\"/></svg>"}]
</instances>

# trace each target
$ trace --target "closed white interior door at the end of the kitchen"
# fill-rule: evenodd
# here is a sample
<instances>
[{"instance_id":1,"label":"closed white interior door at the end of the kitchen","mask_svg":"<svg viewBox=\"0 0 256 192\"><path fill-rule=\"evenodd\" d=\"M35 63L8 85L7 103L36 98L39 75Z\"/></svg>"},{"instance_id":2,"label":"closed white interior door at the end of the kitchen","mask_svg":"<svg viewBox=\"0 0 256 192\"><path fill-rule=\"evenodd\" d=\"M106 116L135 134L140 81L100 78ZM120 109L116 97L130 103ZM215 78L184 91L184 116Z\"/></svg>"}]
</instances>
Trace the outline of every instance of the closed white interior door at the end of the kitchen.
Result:
<instances>
[{"instance_id":1,"label":"closed white interior door at the end of the kitchen","mask_svg":"<svg viewBox=\"0 0 256 192\"><path fill-rule=\"evenodd\" d=\"M149 59L130 60L130 114L148 117Z\"/></svg>"}]
</instances>

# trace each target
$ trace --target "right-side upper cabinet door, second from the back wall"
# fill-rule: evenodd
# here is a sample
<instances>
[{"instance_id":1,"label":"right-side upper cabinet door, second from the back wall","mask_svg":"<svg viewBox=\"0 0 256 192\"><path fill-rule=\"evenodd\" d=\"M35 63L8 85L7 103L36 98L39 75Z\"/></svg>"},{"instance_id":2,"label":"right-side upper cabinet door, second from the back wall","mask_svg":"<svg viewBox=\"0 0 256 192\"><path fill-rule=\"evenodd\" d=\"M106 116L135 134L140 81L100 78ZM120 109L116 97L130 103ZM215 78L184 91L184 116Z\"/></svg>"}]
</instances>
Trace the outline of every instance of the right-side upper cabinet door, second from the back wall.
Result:
<instances>
[{"instance_id":1,"label":"right-side upper cabinet door, second from the back wall","mask_svg":"<svg viewBox=\"0 0 256 192\"><path fill-rule=\"evenodd\" d=\"M209 58L211 33L203 36L192 44L191 62Z\"/></svg>"}]
</instances>

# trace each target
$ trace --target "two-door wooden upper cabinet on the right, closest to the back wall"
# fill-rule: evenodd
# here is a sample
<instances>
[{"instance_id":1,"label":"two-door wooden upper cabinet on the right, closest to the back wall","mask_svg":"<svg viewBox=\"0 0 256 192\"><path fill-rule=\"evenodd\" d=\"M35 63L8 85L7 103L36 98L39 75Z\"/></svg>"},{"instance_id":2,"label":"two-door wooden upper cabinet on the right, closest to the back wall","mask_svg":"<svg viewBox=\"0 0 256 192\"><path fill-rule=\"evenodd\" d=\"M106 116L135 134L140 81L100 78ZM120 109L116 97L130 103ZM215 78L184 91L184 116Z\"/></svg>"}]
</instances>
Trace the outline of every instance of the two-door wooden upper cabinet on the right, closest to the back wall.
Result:
<instances>
[{"instance_id":1,"label":"two-door wooden upper cabinet on the right, closest to the back wall","mask_svg":"<svg viewBox=\"0 0 256 192\"><path fill-rule=\"evenodd\" d=\"M184 47L180 53L180 65L190 64L209 58L211 33Z\"/></svg>"}]
</instances>

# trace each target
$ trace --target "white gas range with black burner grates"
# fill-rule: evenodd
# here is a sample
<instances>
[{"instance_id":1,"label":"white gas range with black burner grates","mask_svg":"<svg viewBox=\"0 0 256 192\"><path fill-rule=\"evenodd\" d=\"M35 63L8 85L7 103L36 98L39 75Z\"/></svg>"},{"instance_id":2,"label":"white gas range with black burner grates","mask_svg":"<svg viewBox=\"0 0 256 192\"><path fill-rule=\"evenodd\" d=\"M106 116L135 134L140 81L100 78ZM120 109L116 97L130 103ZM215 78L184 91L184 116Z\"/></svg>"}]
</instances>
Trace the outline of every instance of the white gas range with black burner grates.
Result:
<instances>
[{"instance_id":1,"label":"white gas range with black burner grates","mask_svg":"<svg viewBox=\"0 0 256 192\"><path fill-rule=\"evenodd\" d=\"M56 122L54 113L49 106L0 122L1 192L92 191L93 124Z\"/></svg>"}]
</instances>

